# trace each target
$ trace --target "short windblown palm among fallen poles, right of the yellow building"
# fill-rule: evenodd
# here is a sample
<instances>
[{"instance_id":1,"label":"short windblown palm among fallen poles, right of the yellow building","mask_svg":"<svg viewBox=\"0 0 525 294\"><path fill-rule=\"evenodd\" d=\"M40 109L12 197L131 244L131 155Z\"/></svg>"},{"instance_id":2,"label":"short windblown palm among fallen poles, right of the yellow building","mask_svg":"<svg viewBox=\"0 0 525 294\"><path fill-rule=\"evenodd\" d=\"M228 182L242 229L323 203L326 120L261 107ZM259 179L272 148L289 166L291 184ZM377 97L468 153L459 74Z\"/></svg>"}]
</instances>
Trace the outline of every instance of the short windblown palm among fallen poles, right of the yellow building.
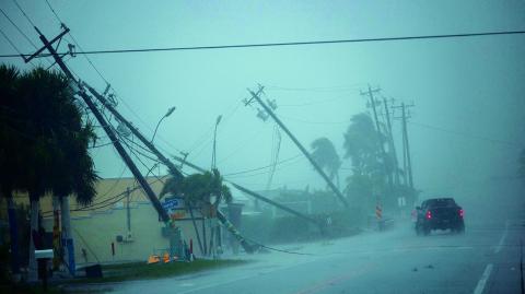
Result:
<instances>
[{"instance_id":1,"label":"short windblown palm among fallen poles, right of the yellow building","mask_svg":"<svg viewBox=\"0 0 525 294\"><path fill-rule=\"evenodd\" d=\"M186 209L191 216L199 249L202 254L206 254L206 232L202 230L202 243L195 222L194 208L200 208L202 216L212 217L217 215L217 209L221 201L228 203L232 201L232 193L230 188L223 184L221 174L218 169L213 169L202 174L192 174L183 179L178 175L172 174L162 188L161 197L166 193L178 195L184 198ZM210 201L212 196L215 197L213 203Z\"/></svg>"}]
</instances>

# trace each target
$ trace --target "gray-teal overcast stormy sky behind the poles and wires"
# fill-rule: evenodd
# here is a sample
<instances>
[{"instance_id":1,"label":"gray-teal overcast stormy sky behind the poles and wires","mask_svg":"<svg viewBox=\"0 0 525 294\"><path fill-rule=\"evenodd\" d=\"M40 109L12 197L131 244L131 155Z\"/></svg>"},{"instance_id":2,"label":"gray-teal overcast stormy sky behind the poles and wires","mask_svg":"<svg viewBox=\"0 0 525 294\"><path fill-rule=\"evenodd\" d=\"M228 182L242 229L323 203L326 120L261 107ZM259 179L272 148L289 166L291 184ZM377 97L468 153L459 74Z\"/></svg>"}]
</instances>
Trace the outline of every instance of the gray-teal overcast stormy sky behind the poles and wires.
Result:
<instances>
[{"instance_id":1,"label":"gray-teal overcast stormy sky behind the poles and wires","mask_svg":"<svg viewBox=\"0 0 525 294\"><path fill-rule=\"evenodd\" d=\"M524 1L49 1L85 50L525 30ZM48 37L59 33L45 1L19 2ZM0 7L38 44L12 1ZM0 25L22 51L33 50L5 17ZM350 117L366 110L359 91L378 85L383 95L416 104L409 125L415 181L432 195L514 175L525 146L524 45L524 35L513 35L91 59L125 102L118 109L145 134L170 106L177 107L155 139L172 154L178 153L174 146L189 151L188 160L209 166L212 127L223 115L218 166L224 174L270 163L273 126L241 104L247 87L266 85L278 115L305 145L327 137L342 156ZM0 39L0 54L11 52ZM18 59L1 61L23 67ZM104 90L83 57L68 64ZM399 134L398 121L394 128ZM295 154L283 133L280 158ZM93 155L103 177L120 176L124 165L110 146ZM253 174L232 179L264 189L268 175ZM273 183L325 187L303 157L278 167Z\"/></svg>"}]
</instances>

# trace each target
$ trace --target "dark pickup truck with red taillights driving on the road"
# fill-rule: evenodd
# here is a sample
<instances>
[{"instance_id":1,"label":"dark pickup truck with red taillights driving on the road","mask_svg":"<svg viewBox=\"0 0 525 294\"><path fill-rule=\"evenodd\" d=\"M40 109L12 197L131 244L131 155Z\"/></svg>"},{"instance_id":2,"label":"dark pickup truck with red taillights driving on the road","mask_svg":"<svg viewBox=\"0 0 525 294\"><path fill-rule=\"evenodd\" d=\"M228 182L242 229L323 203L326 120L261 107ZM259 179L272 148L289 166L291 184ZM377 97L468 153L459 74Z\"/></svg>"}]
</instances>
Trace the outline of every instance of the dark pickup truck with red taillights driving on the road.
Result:
<instances>
[{"instance_id":1,"label":"dark pickup truck with red taillights driving on the road","mask_svg":"<svg viewBox=\"0 0 525 294\"><path fill-rule=\"evenodd\" d=\"M463 209L452 198L429 199L416 208L416 233L429 235L432 230L465 232Z\"/></svg>"}]
</instances>

